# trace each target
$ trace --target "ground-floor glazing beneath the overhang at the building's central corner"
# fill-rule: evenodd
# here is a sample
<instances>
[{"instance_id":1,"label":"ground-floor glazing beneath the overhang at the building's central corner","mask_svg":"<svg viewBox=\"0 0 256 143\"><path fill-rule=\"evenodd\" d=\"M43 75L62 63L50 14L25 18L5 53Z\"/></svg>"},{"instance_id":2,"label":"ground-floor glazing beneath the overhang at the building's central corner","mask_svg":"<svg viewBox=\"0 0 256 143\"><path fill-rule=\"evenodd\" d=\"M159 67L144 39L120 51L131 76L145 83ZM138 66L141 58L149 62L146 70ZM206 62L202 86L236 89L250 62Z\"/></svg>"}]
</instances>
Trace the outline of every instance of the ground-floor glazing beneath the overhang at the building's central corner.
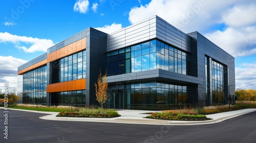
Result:
<instances>
[{"instance_id":1,"label":"ground-floor glazing beneath the overhang at the building's central corner","mask_svg":"<svg viewBox=\"0 0 256 143\"><path fill-rule=\"evenodd\" d=\"M167 110L187 106L186 86L148 82L123 87L108 91L107 108Z\"/></svg>"}]
</instances>

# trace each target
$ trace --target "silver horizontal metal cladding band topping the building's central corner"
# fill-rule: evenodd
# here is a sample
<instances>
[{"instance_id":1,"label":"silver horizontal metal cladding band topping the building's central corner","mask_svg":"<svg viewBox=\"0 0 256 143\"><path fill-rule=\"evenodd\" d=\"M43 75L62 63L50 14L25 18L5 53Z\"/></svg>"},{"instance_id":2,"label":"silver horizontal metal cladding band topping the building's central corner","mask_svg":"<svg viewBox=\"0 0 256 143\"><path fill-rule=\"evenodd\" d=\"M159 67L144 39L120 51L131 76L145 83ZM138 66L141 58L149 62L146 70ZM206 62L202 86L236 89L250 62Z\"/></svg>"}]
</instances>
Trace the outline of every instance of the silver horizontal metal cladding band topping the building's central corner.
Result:
<instances>
[{"instance_id":1,"label":"silver horizontal metal cladding band topping the building's central corner","mask_svg":"<svg viewBox=\"0 0 256 143\"><path fill-rule=\"evenodd\" d=\"M158 16L147 18L107 36L107 52L158 38L190 52L190 37ZM120 42L122 41L122 42Z\"/></svg>"}]
</instances>

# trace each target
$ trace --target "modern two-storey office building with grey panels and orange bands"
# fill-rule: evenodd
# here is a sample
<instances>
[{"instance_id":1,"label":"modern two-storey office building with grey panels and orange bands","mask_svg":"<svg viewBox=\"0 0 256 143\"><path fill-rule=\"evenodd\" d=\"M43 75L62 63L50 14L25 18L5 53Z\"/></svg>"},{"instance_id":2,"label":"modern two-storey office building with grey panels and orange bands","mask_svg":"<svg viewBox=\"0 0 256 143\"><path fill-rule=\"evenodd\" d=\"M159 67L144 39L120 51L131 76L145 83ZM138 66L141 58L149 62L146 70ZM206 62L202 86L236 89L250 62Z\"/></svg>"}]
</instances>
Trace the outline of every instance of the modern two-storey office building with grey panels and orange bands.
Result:
<instances>
[{"instance_id":1,"label":"modern two-storey office building with grey panels and orange bands","mask_svg":"<svg viewBox=\"0 0 256 143\"><path fill-rule=\"evenodd\" d=\"M106 108L174 109L228 104L234 57L198 32L158 16L115 33L88 28L18 67L23 103L99 105L95 85L107 70Z\"/></svg>"}]
</instances>

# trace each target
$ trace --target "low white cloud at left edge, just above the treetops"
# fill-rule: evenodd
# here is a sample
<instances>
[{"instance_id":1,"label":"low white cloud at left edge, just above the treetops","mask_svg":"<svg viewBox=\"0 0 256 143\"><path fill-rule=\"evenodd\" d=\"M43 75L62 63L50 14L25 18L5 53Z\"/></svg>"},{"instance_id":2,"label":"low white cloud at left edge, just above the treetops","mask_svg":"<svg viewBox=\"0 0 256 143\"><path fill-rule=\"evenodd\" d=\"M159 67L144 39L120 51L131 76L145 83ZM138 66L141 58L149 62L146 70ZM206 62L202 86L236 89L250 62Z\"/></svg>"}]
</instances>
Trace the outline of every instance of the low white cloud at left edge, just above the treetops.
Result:
<instances>
[{"instance_id":1,"label":"low white cloud at left edge, just above the treetops","mask_svg":"<svg viewBox=\"0 0 256 143\"><path fill-rule=\"evenodd\" d=\"M0 86L8 83L9 86L17 86L17 67L27 61L12 56L0 56Z\"/></svg>"}]
</instances>

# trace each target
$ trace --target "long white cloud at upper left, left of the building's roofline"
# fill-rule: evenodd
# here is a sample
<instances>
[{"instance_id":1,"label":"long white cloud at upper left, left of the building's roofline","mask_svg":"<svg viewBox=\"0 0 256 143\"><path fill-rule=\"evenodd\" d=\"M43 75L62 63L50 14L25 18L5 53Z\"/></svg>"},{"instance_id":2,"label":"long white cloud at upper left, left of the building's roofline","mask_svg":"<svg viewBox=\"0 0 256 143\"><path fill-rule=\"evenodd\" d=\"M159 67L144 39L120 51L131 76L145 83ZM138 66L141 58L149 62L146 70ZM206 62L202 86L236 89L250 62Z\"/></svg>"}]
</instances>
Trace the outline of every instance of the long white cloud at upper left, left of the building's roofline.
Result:
<instances>
[{"instance_id":1,"label":"long white cloud at upper left, left of the building's roofline","mask_svg":"<svg viewBox=\"0 0 256 143\"><path fill-rule=\"evenodd\" d=\"M12 35L8 32L0 32L0 43L1 42L12 42L15 47L22 49L24 52L33 53L36 51L47 52L47 49L54 45L53 41L50 39L39 39L26 36ZM29 47L26 45L30 44Z\"/></svg>"}]
</instances>

